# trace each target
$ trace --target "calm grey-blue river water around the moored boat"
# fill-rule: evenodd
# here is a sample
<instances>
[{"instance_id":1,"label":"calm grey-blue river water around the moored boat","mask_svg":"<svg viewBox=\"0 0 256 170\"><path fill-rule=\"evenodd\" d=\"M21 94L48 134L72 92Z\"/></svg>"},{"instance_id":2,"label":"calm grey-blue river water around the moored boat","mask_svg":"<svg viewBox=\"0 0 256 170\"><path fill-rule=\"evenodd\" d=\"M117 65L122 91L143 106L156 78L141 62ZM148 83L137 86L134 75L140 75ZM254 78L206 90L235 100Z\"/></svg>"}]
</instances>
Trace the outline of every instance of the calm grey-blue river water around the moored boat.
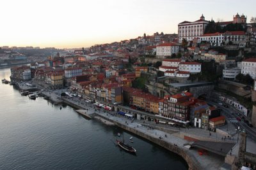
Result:
<instances>
[{"instance_id":1,"label":"calm grey-blue river water around the moored boat","mask_svg":"<svg viewBox=\"0 0 256 170\"><path fill-rule=\"evenodd\" d=\"M10 68L0 78L10 80ZM0 83L0 169L188 169L179 155L138 136L136 156L120 150L118 132L133 136Z\"/></svg>"}]
</instances>

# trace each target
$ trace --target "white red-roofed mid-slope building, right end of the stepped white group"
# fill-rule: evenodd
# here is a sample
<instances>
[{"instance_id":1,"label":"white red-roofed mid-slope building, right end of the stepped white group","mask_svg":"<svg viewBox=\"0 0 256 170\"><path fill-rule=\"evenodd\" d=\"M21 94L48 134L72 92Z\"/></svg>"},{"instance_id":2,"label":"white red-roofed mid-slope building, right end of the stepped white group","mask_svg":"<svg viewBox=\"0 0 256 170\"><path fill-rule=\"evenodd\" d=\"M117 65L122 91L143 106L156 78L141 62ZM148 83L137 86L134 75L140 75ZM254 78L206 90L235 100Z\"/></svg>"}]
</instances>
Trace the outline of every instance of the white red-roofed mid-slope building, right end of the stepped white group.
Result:
<instances>
[{"instance_id":1,"label":"white red-roofed mid-slope building, right end of the stepped white group","mask_svg":"<svg viewBox=\"0 0 256 170\"><path fill-rule=\"evenodd\" d=\"M199 63L199 62L180 62L179 70L180 71L188 71L189 73L200 73L201 72L201 63Z\"/></svg>"}]
</instances>

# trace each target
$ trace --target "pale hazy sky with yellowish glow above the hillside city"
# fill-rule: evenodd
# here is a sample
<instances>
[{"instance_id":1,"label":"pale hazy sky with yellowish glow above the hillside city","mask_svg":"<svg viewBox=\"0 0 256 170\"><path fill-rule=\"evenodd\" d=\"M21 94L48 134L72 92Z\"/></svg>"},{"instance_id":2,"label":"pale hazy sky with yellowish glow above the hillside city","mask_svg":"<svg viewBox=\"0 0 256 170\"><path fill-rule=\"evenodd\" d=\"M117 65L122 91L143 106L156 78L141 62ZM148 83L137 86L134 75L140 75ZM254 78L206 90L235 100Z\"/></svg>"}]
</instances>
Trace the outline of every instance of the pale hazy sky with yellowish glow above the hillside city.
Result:
<instances>
[{"instance_id":1,"label":"pale hazy sky with yellowish glow above the hillside city","mask_svg":"<svg viewBox=\"0 0 256 170\"><path fill-rule=\"evenodd\" d=\"M177 24L256 17L255 0L1 0L0 46L88 47L154 32L177 33Z\"/></svg>"}]
</instances>

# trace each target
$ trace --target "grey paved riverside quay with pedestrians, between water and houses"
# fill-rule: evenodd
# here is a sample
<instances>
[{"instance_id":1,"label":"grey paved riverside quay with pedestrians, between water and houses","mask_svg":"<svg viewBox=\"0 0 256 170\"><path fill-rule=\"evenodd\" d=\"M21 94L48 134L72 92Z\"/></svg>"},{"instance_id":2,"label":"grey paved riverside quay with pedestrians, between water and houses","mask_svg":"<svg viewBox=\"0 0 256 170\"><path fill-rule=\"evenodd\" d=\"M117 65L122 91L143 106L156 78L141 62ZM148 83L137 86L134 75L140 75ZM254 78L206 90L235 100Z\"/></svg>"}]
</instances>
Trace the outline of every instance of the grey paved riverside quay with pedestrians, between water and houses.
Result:
<instances>
[{"instance_id":1,"label":"grey paved riverside quay with pedestrians, between water and houses","mask_svg":"<svg viewBox=\"0 0 256 170\"><path fill-rule=\"evenodd\" d=\"M43 90L42 94L48 96L54 103L58 104L68 104L73 108L78 110L88 110L89 112L94 112L97 120L102 123L114 124L121 127L125 131L129 131L133 134L145 138L148 141L155 143L163 148L166 148L170 152L177 153L188 163L189 169L220 169L221 165L224 163L224 159L216 157L214 154L208 154L200 156L198 151L195 149L188 149L184 144L189 143L189 141L181 138L180 131L163 131L163 128L149 129L147 124L152 122L145 121L142 124L140 120L131 120L121 116L116 115L115 112L106 113L103 110L95 110L92 104L86 103L83 99L79 97L60 97L61 90ZM167 136L164 137L164 136ZM161 137L161 139L159 138ZM140 148L138 148L139 152Z\"/></svg>"}]
</instances>

